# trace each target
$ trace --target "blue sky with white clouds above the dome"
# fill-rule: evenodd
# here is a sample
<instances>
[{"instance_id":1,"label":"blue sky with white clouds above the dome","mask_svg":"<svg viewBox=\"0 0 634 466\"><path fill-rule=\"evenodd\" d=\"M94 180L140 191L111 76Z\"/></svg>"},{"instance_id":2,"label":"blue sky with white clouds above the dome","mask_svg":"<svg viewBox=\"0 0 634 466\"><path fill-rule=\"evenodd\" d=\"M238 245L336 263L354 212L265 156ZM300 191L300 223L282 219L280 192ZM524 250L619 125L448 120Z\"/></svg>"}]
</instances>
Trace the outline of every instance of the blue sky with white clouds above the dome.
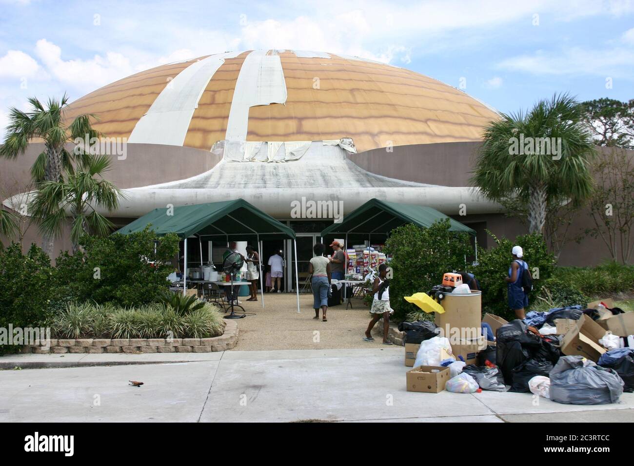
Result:
<instances>
[{"instance_id":1,"label":"blue sky with white clouds above the dome","mask_svg":"<svg viewBox=\"0 0 634 466\"><path fill-rule=\"evenodd\" d=\"M384 61L501 112L559 92L634 98L634 1L0 0L0 136L29 96L74 100L162 63L254 48Z\"/></svg>"}]
</instances>

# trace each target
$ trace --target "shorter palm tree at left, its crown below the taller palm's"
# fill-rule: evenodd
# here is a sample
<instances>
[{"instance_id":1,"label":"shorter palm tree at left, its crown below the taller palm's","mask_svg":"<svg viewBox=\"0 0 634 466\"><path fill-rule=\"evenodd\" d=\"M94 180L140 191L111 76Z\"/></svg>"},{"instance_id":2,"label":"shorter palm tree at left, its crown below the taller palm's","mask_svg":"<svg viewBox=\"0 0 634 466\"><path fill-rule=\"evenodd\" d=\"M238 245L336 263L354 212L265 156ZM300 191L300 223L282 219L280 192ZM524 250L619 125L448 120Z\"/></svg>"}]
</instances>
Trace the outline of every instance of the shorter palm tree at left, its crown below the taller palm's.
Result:
<instances>
[{"instance_id":1,"label":"shorter palm tree at left, its crown below the taller palm's","mask_svg":"<svg viewBox=\"0 0 634 466\"><path fill-rule=\"evenodd\" d=\"M39 183L36 197L30 204L34 216L40 219L42 231L51 236L61 232L70 216L70 239L73 252L79 248L79 238L85 233L106 236L113 224L97 209L111 212L119 206L121 191L103 173L110 170L107 155L85 154L78 157L74 171L57 181Z\"/></svg>"}]
</instances>

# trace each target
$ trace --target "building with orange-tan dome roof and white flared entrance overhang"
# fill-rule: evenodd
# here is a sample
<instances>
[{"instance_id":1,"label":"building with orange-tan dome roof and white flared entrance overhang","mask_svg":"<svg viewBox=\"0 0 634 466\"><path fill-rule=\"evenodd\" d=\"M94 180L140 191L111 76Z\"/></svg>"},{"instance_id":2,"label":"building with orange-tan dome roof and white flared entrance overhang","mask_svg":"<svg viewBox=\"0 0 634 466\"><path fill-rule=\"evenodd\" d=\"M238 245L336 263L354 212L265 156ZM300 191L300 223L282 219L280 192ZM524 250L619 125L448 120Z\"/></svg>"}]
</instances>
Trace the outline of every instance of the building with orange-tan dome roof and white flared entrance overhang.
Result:
<instances>
[{"instance_id":1,"label":"building with orange-tan dome roof and white flared entrance overhang","mask_svg":"<svg viewBox=\"0 0 634 466\"><path fill-rule=\"evenodd\" d=\"M304 250L333 218L297 217L294 203L337 202L347 214L378 198L456 216L481 246L485 228L525 231L469 187L482 130L498 113L404 68L306 50L226 52L108 84L65 119L82 113L96 115L113 157L107 178L125 190L108 214L117 226L170 204L243 198L292 226ZM3 166L27 183L39 152L32 143Z\"/></svg>"}]
</instances>

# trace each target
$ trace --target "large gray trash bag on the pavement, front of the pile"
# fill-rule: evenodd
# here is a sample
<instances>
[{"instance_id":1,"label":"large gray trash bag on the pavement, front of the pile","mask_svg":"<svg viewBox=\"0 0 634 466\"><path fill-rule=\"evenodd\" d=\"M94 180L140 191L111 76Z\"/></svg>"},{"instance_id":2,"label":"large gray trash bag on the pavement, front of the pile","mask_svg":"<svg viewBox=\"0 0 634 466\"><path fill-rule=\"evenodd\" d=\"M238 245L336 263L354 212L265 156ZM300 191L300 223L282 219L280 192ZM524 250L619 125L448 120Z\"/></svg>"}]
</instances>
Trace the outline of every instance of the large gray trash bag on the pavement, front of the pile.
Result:
<instances>
[{"instance_id":1,"label":"large gray trash bag on the pavement, front of the pile","mask_svg":"<svg viewBox=\"0 0 634 466\"><path fill-rule=\"evenodd\" d=\"M550 372L550 399L566 405L616 403L623 380L583 356L562 356Z\"/></svg>"}]
</instances>

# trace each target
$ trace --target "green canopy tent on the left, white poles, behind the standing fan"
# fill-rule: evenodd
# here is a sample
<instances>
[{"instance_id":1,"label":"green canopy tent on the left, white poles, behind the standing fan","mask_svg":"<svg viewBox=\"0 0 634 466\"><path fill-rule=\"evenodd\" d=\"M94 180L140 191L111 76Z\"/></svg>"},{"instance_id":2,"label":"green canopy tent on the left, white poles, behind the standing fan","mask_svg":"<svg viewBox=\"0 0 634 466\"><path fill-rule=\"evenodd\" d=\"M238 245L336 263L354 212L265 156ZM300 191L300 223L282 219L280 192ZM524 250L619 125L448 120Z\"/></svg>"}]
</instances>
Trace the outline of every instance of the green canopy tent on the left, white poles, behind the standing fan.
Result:
<instances>
[{"instance_id":1,"label":"green canopy tent on the left, white poles, behind the standing fan","mask_svg":"<svg viewBox=\"0 0 634 466\"><path fill-rule=\"evenodd\" d=\"M210 202L207 204L181 205L154 209L143 217L139 217L127 224L116 233L129 235L142 231L148 224L157 235L176 233L184 242L184 271L183 276L187 280L187 239L192 236L224 238L227 242L245 241L256 238L260 259L262 261L262 240L266 239L291 239L295 244L295 257L297 257L297 241L295 232L283 223L257 209L254 205L243 199L223 202ZM200 264L202 266L202 250L200 251ZM260 273L260 286L262 288L262 307L264 307L264 286ZM297 278L297 261L295 261L295 288L297 291L297 312L299 313L299 278ZM183 288L184 292L184 288Z\"/></svg>"}]
</instances>

